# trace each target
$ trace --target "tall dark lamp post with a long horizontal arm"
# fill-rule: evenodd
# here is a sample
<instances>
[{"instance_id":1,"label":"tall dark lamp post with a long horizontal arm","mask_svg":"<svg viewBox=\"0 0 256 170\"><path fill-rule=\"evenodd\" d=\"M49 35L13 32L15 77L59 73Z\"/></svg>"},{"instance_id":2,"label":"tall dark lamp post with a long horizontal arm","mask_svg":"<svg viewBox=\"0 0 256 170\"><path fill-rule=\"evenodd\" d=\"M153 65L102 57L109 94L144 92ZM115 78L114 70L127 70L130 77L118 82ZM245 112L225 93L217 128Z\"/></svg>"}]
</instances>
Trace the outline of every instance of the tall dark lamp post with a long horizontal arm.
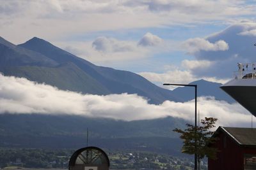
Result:
<instances>
[{"instance_id":1,"label":"tall dark lamp post with a long horizontal arm","mask_svg":"<svg viewBox=\"0 0 256 170\"><path fill-rule=\"evenodd\" d=\"M177 86L188 86L188 87L195 87L195 170L197 169L197 148L196 148L196 98L197 98L197 85L184 85L184 84L170 84L170 83L164 83L163 85L177 85Z\"/></svg>"}]
</instances>

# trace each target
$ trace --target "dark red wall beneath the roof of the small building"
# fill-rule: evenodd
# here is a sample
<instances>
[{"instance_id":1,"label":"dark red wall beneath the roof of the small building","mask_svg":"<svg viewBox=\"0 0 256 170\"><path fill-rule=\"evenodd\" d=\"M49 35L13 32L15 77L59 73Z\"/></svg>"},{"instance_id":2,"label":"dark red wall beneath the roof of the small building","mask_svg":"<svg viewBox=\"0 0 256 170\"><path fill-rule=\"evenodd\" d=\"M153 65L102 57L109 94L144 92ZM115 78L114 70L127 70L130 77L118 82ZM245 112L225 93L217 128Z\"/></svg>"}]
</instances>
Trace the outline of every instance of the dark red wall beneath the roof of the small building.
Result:
<instances>
[{"instance_id":1,"label":"dark red wall beneath the roof of the small building","mask_svg":"<svg viewBox=\"0 0 256 170\"><path fill-rule=\"evenodd\" d=\"M244 148L223 132L218 134L218 138L212 146L218 148L220 152L217 153L216 160L208 159L209 170L243 170L244 153L256 154L256 148ZM224 144L225 138L226 144Z\"/></svg>"}]
</instances>

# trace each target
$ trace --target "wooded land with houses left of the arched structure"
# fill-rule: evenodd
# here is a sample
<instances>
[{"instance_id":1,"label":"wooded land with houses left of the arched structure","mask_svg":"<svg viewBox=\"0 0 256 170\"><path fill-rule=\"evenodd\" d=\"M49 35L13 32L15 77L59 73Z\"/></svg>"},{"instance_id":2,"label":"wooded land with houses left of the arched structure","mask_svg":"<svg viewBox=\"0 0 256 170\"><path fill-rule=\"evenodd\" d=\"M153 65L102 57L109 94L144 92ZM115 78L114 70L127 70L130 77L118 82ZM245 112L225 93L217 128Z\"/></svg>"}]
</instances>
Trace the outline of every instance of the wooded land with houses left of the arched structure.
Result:
<instances>
[{"instance_id":1,"label":"wooded land with houses left of the arched structure","mask_svg":"<svg viewBox=\"0 0 256 170\"><path fill-rule=\"evenodd\" d=\"M0 167L66 168L74 150L1 148Z\"/></svg>"}]
</instances>

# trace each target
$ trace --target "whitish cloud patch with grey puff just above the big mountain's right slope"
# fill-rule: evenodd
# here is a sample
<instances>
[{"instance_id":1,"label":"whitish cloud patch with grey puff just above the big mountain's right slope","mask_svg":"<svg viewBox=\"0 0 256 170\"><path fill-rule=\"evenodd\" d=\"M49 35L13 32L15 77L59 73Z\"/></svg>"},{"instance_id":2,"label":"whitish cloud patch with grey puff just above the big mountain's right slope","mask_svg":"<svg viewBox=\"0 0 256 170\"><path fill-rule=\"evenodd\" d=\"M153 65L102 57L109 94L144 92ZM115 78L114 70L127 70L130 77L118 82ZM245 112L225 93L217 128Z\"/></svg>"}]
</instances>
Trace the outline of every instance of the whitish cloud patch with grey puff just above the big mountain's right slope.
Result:
<instances>
[{"instance_id":1,"label":"whitish cloud patch with grey puff just above the big mountain's right slope","mask_svg":"<svg viewBox=\"0 0 256 170\"><path fill-rule=\"evenodd\" d=\"M106 38L105 40L105 42L104 40L71 41L68 46L65 42L58 42L56 45L78 57L93 62L93 64L103 66L107 66L108 63L114 64L150 56L151 50L138 48L136 41L119 41L113 38Z\"/></svg>"}]
</instances>

